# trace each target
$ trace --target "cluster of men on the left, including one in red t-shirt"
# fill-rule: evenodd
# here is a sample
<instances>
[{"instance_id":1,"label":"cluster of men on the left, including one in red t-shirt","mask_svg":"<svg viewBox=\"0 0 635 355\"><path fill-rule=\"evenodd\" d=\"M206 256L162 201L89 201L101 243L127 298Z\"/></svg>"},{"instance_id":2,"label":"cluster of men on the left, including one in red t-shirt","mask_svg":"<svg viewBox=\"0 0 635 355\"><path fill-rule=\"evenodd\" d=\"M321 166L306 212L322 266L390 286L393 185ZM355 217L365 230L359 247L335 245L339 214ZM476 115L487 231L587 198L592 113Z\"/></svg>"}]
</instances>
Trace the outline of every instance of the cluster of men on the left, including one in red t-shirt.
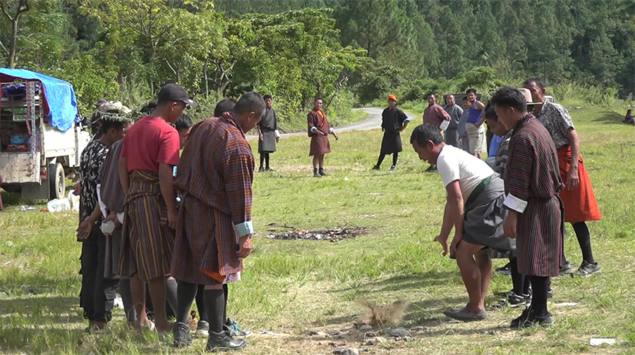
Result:
<instances>
[{"instance_id":1,"label":"cluster of men on the left, including one in red t-shirt","mask_svg":"<svg viewBox=\"0 0 635 355\"><path fill-rule=\"evenodd\" d=\"M228 284L241 280L253 248L255 162L245 133L270 105L248 92L219 102L215 118L193 125L183 111L194 105L183 87L168 84L132 125L121 106L97 110L99 134L81 159L78 228L80 306L89 331L107 326L119 288L138 334L156 329L159 337L171 332L177 347L192 344L188 316L196 299L196 333L208 336L208 350L246 347L239 337L250 332L226 314Z\"/></svg>"}]
</instances>

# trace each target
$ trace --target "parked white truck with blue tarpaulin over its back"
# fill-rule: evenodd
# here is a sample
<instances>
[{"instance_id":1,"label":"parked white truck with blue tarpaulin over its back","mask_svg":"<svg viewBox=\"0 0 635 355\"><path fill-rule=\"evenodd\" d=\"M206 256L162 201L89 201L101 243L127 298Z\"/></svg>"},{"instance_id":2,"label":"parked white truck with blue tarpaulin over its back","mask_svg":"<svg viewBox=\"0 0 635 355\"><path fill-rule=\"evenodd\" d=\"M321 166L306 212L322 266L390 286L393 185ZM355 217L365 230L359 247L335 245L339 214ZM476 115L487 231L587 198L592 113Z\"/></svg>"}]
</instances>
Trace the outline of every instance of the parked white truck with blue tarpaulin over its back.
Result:
<instances>
[{"instance_id":1,"label":"parked white truck with blue tarpaulin over its back","mask_svg":"<svg viewBox=\"0 0 635 355\"><path fill-rule=\"evenodd\" d=\"M0 68L2 188L23 199L61 199L90 133L73 86L29 70Z\"/></svg>"}]
</instances>

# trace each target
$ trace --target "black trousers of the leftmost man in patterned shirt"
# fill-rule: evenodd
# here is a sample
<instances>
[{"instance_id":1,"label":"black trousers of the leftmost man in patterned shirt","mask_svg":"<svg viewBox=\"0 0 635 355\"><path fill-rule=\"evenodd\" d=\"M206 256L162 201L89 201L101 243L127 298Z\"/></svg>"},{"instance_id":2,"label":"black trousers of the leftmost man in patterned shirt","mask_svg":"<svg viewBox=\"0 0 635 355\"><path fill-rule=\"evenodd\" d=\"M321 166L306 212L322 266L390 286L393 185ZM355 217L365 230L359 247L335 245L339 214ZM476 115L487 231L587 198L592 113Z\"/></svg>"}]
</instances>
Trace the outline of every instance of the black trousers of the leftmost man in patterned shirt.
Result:
<instances>
[{"instance_id":1,"label":"black trousers of the leftmost man in patterned shirt","mask_svg":"<svg viewBox=\"0 0 635 355\"><path fill-rule=\"evenodd\" d=\"M97 322L109 322L116 297L119 280L104 278L106 261L106 237L99 230L99 224L92 228L90 236L82 242L82 289L80 306L84 318Z\"/></svg>"}]
</instances>

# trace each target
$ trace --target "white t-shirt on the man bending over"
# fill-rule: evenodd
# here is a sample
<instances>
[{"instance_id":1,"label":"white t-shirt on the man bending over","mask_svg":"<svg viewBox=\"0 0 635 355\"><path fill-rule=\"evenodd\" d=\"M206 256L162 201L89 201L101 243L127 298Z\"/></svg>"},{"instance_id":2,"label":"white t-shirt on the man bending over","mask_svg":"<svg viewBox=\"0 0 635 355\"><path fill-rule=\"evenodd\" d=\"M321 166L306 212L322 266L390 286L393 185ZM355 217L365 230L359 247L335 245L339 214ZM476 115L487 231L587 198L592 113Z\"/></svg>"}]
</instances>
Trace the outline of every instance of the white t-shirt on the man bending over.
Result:
<instances>
[{"instance_id":1,"label":"white t-shirt on the man bending over","mask_svg":"<svg viewBox=\"0 0 635 355\"><path fill-rule=\"evenodd\" d=\"M445 187L450 182L459 180L463 201L467 201L481 181L494 175L494 170L485 161L449 144L445 144L441 149L441 154L437 158L437 169Z\"/></svg>"}]
</instances>

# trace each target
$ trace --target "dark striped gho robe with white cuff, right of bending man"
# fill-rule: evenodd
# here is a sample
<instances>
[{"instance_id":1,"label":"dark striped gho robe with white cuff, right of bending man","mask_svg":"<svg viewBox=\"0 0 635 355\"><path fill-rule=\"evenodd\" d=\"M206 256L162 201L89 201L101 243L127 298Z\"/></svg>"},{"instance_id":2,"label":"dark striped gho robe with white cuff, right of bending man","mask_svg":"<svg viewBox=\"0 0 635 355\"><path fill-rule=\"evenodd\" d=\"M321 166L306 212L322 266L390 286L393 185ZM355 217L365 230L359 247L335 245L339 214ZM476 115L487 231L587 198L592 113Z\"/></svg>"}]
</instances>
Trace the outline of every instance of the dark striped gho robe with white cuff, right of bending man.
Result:
<instances>
[{"instance_id":1,"label":"dark striped gho robe with white cuff, right of bending man","mask_svg":"<svg viewBox=\"0 0 635 355\"><path fill-rule=\"evenodd\" d=\"M519 213L516 256L523 275L557 276L564 233L555 145L531 113L514 126L504 173L505 206Z\"/></svg>"}]
</instances>

